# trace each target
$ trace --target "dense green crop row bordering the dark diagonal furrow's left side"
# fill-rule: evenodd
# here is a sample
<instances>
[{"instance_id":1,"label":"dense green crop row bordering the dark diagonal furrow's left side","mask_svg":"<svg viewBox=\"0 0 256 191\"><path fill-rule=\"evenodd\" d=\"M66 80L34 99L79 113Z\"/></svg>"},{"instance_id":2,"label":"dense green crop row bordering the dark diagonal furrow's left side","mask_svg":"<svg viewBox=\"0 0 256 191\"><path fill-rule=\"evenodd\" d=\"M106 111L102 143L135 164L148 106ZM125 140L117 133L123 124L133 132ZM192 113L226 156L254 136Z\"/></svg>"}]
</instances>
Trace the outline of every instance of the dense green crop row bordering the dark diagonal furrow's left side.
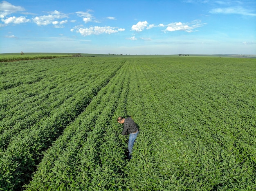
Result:
<instances>
[{"instance_id":1,"label":"dense green crop row bordering the dark diagonal furrow's left side","mask_svg":"<svg viewBox=\"0 0 256 191\"><path fill-rule=\"evenodd\" d=\"M116 64L108 62L102 66L102 63L98 61L93 63L94 73L97 74L99 68L105 68L105 71L101 70L96 78L92 74L92 81L84 81L87 84L86 88L75 86L79 89L73 90L72 97L66 99L55 110L50 111L49 116L44 116L35 125L13 136L7 148L1 151L0 168L3 170L0 174L0 185L2 190L18 189L29 180L31 173L34 172L36 165L43 157L43 151L62 134L70 122L83 112L92 98L97 95L97 92L106 86L109 80L115 76L115 72L122 66L122 62L116 62ZM81 78L80 80L83 81ZM79 80L77 83L80 83ZM65 89L65 86L63 88ZM61 94L58 97L61 98Z\"/></svg>"}]
</instances>

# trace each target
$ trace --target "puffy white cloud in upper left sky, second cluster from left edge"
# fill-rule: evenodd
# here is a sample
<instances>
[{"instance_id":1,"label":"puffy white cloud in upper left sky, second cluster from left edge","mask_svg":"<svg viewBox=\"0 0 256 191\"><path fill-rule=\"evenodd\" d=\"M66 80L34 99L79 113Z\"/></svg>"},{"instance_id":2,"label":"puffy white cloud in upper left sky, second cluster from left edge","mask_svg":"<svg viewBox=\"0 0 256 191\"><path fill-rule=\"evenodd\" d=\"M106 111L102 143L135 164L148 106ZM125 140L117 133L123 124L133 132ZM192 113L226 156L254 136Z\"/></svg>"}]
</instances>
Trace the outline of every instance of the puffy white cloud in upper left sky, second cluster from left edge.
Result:
<instances>
[{"instance_id":1,"label":"puffy white cloud in upper left sky, second cluster from left edge","mask_svg":"<svg viewBox=\"0 0 256 191\"><path fill-rule=\"evenodd\" d=\"M68 16L64 13L61 13L59 11L53 11L49 12L49 15L43 15L39 17L35 17L32 20L37 24L37 25L48 25L48 24L58 24L59 22L57 21L58 19L62 18L67 18Z\"/></svg>"}]
</instances>

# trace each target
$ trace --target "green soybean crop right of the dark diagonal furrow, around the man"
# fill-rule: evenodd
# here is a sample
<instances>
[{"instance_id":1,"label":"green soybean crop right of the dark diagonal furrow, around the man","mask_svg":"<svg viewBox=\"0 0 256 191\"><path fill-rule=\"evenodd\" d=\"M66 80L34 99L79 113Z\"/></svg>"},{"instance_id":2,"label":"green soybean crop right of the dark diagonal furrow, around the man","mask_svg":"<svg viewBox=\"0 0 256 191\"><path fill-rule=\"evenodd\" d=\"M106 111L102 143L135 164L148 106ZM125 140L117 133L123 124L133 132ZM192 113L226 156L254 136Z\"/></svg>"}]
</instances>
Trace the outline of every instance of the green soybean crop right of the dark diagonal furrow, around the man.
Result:
<instances>
[{"instance_id":1,"label":"green soybean crop right of the dark diagonal furrow, around the man","mask_svg":"<svg viewBox=\"0 0 256 191\"><path fill-rule=\"evenodd\" d=\"M255 115L250 109L255 107L251 91L255 79L248 77L252 72L238 78L244 81L243 86L239 85L243 92L234 95L229 86L237 83L232 77L221 83L219 80L225 76L204 74L209 68L221 73L223 68L218 69L215 64L209 67L202 60L189 70L192 64L167 65L168 61L158 61L129 59L119 71L129 79L120 79L117 74L112 80L120 83L108 84L109 89L99 94L103 101L95 97L92 105L66 129L79 132L73 134L71 141L64 136L55 142L27 190L255 189L256 141L251 134ZM234 75L239 76L240 72ZM247 105L237 108L241 99L232 102L229 97L234 99L241 93L249 95ZM98 107L104 112L98 112ZM229 111L225 116L224 110ZM238 117L238 113L246 113L249 120L244 121L245 115ZM128 163L123 161L126 138L116 138L121 132L115 125L119 115L132 116L140 130ZM232 115L237 120L232 117L229 121ZM231 122L235 128L229 125ZM244 137L238 132L244 132ZM62 142L63 138L67 142ZM55 157L55 153L60 154Z\"/></svg>"}]
</instances>

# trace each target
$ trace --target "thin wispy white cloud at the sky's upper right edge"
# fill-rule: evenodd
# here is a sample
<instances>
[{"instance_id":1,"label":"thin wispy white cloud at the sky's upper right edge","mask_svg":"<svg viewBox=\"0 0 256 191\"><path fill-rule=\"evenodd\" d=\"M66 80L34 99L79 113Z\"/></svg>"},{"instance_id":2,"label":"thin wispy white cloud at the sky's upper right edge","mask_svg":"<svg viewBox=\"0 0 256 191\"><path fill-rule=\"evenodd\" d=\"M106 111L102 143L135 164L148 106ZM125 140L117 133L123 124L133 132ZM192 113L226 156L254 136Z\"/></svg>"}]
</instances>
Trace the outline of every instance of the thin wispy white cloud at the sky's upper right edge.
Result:
<instances>
[{"instance_id":1,"label":"thin wispy white cloud at the sky's upper right edge","mask_svg":"<svg viewBox=\"0 0 256 191\"><path fill-rule=\"evenodd\" d=\"M245 16L256 16L256 13L252 13L252 11L244 9L243 7L227 7L227 8L216 8L209 11L209 13L213 14L238 14Z\"/></svg>"}]
</instances>

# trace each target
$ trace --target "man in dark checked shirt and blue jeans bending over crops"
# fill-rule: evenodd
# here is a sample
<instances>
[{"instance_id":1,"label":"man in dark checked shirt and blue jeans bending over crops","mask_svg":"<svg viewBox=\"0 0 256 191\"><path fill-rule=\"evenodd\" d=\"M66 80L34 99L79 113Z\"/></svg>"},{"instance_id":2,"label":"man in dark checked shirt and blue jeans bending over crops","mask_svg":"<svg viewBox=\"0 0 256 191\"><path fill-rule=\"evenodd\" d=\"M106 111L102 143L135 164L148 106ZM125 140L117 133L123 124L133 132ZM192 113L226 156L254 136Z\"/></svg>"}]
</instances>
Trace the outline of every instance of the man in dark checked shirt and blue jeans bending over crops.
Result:
<instances>
[{"instance_id":1,"label":"man in dark checked shirt and blue jeans bending over crops","mask_svg":"<svg viewBox=\"0 0 256 191\"><path fill-rule=\"evenodd\" d=\"M122 132L122 135L127 135L128 133L130 134L129 142L128 142L128 151L129 151L128 159L131 159L132 158L132 147L133 147L135 139L139 133L139 129L138 129L137 125L134 123L134 121L132 120L132 118L130 118L130 117L127 117L127 118L118 117L117 122L124 124L124 130Z\"/></svg>"}]
</instances>

